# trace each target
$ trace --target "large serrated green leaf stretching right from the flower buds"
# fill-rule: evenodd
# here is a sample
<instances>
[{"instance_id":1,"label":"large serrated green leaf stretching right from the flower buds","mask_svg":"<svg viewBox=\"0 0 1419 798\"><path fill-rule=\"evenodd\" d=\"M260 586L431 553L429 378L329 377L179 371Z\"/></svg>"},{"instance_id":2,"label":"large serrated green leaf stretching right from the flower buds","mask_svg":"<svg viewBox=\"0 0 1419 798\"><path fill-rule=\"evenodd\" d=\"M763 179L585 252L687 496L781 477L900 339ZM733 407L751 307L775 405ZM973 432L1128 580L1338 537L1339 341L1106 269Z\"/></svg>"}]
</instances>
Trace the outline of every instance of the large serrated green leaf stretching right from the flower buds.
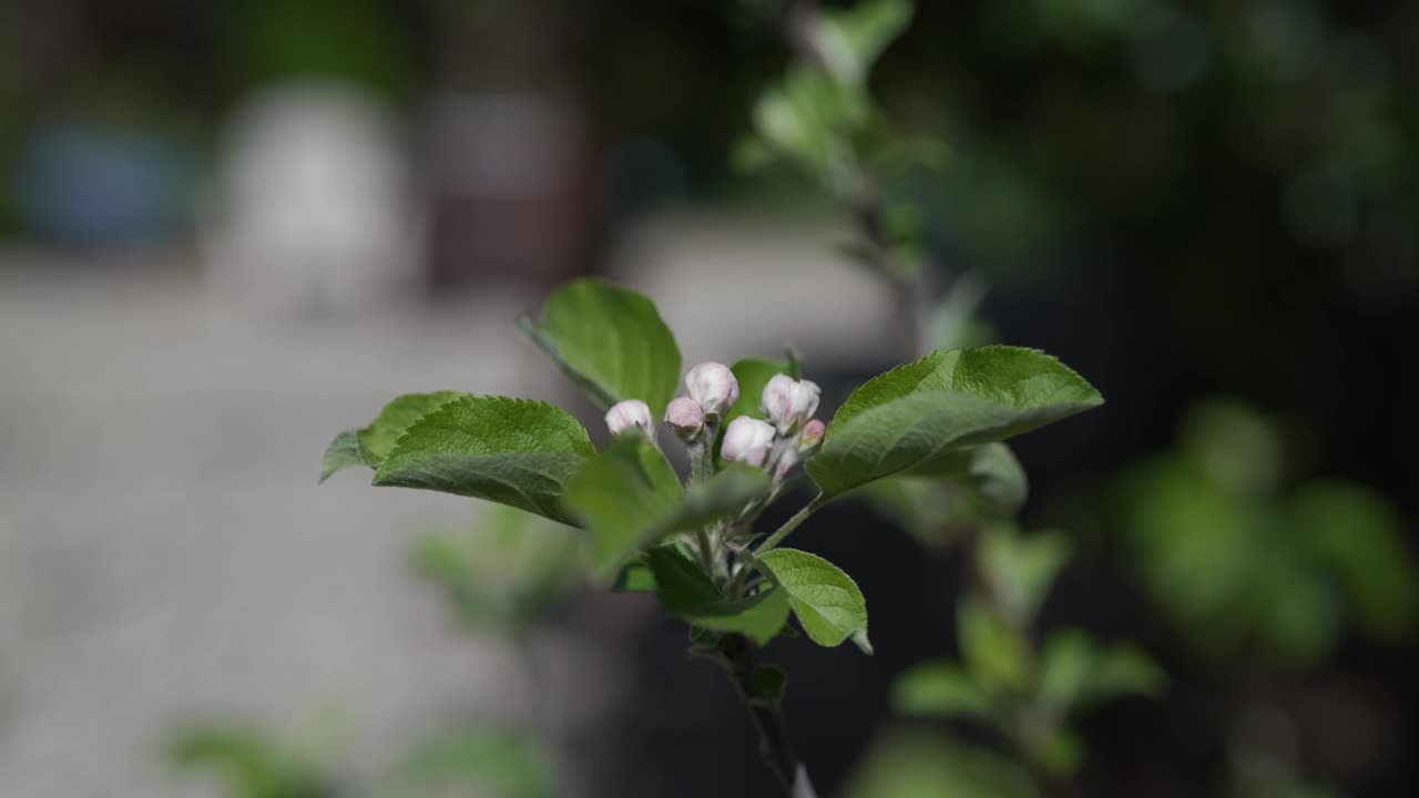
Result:
<instances>
[{"instance_id":1,"label":"large serrated green leaf stretching right from the flower buds","mask_svg":"<svg viewBox=\"0 0 1419 798\"><path fill-rule=\"evenodd\" d=\"M826 497L834 497L897 473L958 470L964 447L1101 403L1088 382L1034 349L932 352L854 390L807 471Z\"/></svg>"}]
</instances>

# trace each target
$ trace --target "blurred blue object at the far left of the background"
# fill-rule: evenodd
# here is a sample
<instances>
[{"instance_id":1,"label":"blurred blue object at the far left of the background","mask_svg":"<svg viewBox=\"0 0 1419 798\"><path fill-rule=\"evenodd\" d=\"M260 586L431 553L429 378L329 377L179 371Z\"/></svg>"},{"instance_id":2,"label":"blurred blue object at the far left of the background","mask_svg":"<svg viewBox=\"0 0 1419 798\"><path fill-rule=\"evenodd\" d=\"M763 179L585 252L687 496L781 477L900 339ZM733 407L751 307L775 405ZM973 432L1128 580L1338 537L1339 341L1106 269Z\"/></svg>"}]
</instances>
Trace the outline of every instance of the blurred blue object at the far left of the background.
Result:
<instances>
[{"instance_id":1,"label":"blurred blue object at the far left of the background","mask_svg":"<svg viewBox=\"0 0 1419 798\"><path fill-rule=\"evenodd\" d=\"M192 222L192 149L175 136L81 122L37 126L9 190L21 229L57 244L140 244Z\"/></svg>"}]
</instances>

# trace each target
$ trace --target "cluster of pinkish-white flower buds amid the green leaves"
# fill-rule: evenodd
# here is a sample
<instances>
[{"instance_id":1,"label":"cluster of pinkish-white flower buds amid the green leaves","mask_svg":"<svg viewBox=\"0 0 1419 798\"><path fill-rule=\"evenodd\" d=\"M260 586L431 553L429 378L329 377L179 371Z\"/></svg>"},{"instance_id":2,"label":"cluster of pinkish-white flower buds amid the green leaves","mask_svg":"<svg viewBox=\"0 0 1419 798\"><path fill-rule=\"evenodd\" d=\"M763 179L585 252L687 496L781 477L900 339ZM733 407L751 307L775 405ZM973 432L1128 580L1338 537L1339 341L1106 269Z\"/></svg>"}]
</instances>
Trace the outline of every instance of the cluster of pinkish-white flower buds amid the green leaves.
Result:
<instances>
[{"instance_id":1,"label":"cluster of pinkish-white flower buds amid the green leaves","mask_svg":"<svg viewBox=\"0 0 1419 798\"><path fill-rule=\"evenodd\" d=\"M775 479L783 476L823 442L826 426L813 417L817 410L816 382L793 379L786 373L773 375L763 386L763 416L761 422L739 416L724 432L719 457L732 463L773 469ZM685 395L670 400L666 426L681 440L697 440L707 426L719 423L739 399L739 381L729 366L704 362L685 373ZM650 408L639 399L617 402L606 412L606 426L612 434L631 430L650 433L654 422Z\"/></svg>"}]
</instances>

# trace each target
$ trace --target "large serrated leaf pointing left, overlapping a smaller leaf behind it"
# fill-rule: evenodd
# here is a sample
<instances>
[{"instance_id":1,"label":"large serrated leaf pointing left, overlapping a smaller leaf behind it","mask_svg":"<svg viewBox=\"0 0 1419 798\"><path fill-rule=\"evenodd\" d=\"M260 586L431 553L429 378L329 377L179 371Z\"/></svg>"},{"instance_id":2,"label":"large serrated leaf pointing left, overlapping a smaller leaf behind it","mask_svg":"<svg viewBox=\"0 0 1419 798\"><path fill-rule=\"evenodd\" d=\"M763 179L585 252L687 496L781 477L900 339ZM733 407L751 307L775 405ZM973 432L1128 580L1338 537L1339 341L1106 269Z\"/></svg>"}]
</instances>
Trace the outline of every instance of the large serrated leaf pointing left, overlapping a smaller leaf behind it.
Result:
<instances>
[{"instance_id":1,"label":"large serrated leaf pointing left, overlapping a smaller leaf behind it","mask_svg":"<svg viewBox=\"0 0 1419 798\"><path fill-rule=\"evenodd\" d=\"M461 396L394 442L375 484L487 498L570 523L566 481L595 454L566 410L507 396Z\"/></svg>"}]
</instances>

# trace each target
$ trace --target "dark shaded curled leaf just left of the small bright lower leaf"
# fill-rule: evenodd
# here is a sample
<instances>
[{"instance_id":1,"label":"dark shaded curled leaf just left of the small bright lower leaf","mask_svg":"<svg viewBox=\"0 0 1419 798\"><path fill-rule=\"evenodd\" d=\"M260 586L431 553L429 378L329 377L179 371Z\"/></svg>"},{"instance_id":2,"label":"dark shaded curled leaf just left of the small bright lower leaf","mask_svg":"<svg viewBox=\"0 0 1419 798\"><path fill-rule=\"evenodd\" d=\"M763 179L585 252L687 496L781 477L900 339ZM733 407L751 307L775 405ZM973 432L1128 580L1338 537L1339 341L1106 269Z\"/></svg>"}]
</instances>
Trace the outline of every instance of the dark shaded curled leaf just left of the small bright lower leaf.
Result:
<instances>
[{"instance_id":1,"label":"dark shaded curled leaf just left of the small bright lower leaf","mask_svg":"<svg viewBox=\"0 0 1419 798\"><path fill-rule=\"evenodd\" d=\"M738 632L761 646L772 640L789 619L789 602L780 588L731 601L704 568L670 545L646 554L656 574L656 595L671 615L702 629Z\"/></svg>"}]
</instances>

